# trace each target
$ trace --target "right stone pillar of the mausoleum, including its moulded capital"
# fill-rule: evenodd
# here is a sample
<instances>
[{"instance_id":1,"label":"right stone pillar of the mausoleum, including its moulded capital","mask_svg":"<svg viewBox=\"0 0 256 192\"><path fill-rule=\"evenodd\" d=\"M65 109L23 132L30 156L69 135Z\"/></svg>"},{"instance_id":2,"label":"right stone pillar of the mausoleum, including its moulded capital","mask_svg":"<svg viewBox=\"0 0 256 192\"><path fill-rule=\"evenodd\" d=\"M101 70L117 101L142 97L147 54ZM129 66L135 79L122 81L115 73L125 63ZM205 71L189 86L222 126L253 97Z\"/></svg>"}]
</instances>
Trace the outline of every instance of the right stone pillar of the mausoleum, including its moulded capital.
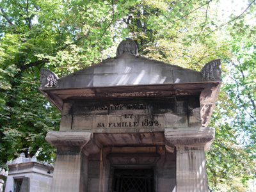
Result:
<instances>
[{"instance_id":1,"label":"right stone pillar of the mausoleum, including its moulded capital","mask_svg":"<svg viewBox=\"0 0 256 192\"><path fill-rule=\"evenodd\" d=\"M214 139L211 127L165 129L166 150L176 150L176 191L208 191L205 152Z\"/></svg>"}]
</instances>

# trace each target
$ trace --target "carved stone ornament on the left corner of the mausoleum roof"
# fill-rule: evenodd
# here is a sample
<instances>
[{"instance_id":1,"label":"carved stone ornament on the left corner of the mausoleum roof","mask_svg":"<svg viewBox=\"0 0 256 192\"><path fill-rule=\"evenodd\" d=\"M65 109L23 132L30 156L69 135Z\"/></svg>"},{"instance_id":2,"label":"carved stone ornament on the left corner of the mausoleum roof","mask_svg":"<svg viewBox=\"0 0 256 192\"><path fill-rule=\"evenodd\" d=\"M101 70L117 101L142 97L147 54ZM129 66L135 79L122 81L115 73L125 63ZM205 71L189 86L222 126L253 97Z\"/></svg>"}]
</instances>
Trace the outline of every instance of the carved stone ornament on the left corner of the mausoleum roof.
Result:
<instances>
[{"instance_id":1,"label":"carved stone ornament on the left corner of the mausoleum roof","mask_svg":"<svg viewBox=\"0 0 256 192\"><path fill-rule=\"evenodd\" d=\"M41 68L40 88L55 87L58 84L58 76L49 69Z\"/></svg>"}]
</instances>

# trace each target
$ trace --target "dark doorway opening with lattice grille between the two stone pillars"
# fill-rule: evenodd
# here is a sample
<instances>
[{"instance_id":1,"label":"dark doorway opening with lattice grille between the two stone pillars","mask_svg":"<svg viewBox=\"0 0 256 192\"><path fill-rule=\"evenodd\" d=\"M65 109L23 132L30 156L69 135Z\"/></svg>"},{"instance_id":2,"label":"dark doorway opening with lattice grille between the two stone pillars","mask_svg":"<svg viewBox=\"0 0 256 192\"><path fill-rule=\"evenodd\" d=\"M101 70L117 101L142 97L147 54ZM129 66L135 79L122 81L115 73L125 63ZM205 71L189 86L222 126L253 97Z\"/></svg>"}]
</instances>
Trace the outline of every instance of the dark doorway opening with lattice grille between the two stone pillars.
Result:
<instances>
[{"instance_id":1,"label":"dark doorway opening with lattice grille between the two stone pillars","mask_svg":"<svg viewBox=\"0 0 256 192\"><path fill-rule=\"evenodd\" d=\"M115 169L113 192L153 192L152 169Z\"/></svg>"}]
</instances>

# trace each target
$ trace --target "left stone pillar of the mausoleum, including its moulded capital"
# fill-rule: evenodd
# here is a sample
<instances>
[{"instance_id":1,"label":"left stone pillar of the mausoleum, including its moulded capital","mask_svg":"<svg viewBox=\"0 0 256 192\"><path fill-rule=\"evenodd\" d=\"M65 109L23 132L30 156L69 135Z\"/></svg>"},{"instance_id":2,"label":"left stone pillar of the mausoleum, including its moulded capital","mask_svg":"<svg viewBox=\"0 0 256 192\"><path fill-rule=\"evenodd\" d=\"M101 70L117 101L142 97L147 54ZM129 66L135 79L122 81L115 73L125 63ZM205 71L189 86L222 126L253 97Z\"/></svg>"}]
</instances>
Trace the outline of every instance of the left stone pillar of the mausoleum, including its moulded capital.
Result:
<instances>
[{"instance_id":1,"label":"left stone pillar of the mausoleum, including its moulded capital","mask_svg":"<svg viewBox=\"0 0 256 192\"><path fill-rule=\"evenodd\" d=\"M57 147L56 161L52 179L52 192L84 191L81 177L87 166L82 149L90 141L91 132L48 132L45 140ZM83 159L82 159L83 156ZM85 159L84 159L85 158ZM82 163L83 161L83 163ZM85 169L87 171L87 168Z\"/></svg>"}]
</instances>

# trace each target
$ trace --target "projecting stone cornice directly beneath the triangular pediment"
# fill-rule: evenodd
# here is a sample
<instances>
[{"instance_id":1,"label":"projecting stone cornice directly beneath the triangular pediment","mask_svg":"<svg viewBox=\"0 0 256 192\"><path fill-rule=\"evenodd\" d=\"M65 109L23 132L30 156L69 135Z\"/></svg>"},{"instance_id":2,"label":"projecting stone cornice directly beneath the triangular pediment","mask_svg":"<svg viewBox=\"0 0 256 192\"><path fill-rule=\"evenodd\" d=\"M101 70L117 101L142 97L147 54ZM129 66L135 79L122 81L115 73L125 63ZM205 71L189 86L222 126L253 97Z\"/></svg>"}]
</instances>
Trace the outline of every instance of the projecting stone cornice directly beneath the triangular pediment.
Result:
<instances>
[{"instance_id":1,"label":"projecting stone cornice directly beneath the triangular pediment","mask_svg":"<svg viewBox=\"0 0 256 192\"><path fill-rule=\"evenodd\" d=\"M45 88L40 90L57 109L62 111L63 100L88 100L88 99L113 99L134 97L171 97L173 95L201 95L202 98L214 98L215 88L220 89L221 82L198 82L198 83L172 83L172 84L150 84L132 86L105 86L85 88ZM208 91L209 90L209 91ZM205 95L208 93L210 95ZM204 99L200 99L204 102ZM212 100L215 103L215 100Z\"/></svg>"}]
</instances>

